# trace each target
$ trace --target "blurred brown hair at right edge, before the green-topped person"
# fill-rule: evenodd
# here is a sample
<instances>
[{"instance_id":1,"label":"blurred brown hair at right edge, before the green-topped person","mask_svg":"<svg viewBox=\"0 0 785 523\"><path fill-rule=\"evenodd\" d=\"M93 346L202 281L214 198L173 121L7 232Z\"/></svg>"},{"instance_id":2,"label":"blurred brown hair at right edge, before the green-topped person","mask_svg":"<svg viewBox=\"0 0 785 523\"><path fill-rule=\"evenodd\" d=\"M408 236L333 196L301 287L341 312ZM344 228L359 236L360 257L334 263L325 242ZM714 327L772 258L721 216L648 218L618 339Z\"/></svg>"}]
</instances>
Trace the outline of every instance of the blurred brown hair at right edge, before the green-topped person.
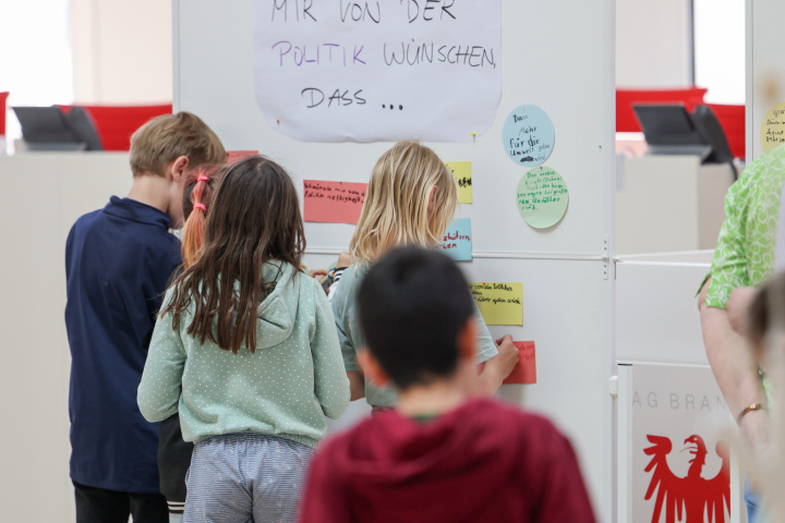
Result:
<instances>
[{"instance_id":1,"label":"blurred brown hair at right edge, before the green-topped person","mask_svg":"<svg viewBox=\"0 0 785 523\"><path fill-rule=\"evenodd\" d=\"M747 339L757 357L763 353L766 333L785 328L785 271L769 279L747 311Z\"/></svg>"}]
</instances>

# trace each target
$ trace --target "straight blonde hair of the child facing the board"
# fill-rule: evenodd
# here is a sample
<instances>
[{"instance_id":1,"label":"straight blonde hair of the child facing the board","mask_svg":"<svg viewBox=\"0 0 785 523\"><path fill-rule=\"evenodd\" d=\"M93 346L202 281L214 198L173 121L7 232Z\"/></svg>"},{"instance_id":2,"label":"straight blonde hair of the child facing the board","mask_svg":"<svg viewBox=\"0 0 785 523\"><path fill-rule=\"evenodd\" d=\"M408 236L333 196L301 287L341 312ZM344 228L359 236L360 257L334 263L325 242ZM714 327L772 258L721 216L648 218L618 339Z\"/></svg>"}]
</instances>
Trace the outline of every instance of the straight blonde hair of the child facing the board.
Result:
<instances>
[{"instance_id":1,"label":"straight blonde hair of the child facing the board","mask_svg":"<svg viewBox=\"0 0 785 523\"><path fill-rule=\"evenodd\" d=\"M439 245L457 205L458 184L436 153L415 141L398 142L374 166L349 245L353 260L371 264L398 245Z\"/></svg>"}]
</instances>

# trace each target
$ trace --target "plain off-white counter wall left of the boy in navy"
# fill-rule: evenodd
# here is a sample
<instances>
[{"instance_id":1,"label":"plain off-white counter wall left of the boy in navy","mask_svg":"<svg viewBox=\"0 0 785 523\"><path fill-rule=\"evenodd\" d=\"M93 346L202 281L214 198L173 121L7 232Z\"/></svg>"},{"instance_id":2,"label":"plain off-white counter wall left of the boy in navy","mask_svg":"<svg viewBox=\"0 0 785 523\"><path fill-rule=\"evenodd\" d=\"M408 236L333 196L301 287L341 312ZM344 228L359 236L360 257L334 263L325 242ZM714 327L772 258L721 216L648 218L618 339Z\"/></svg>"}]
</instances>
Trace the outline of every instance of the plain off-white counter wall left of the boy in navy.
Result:
<instances>
[{"instance_id":1,"label":"plain off-white counter wall left of the boy in navy","mask_svg":"<svg viewBox=\"0 0 785 523\"><path fill-rule=\"evenodd\" d=\"M0 521L70 522L65 239L128 194L131 167L120 153L0 156Z\"/></svg>"}]
</instances>

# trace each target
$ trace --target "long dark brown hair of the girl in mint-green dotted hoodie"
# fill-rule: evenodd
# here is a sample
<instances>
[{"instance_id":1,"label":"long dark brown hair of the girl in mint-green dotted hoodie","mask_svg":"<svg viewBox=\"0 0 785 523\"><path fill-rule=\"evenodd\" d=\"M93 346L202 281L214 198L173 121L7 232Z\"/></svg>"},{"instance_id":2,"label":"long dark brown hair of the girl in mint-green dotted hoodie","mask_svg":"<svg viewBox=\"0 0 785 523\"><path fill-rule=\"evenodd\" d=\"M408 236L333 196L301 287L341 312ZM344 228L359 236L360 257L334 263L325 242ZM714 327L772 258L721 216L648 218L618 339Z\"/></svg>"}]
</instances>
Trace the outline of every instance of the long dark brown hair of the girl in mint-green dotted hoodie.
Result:
<instances>
[{"instance_id":1,"label":"long dark brown hair of the girl in mint-green dotted hoodie","mask_svg":"<svg viewBox=\"0 0 785 523\"><path fill-rule=\"evenodd\" d=\"M213 197L202 256L174 280L161 315L172 311L172 327L179 329L193 301L189 335L234 353L243 344L254 352L256 311L276 285L263 281L263 268L275 259L292 265L297 275L304 251L298 193L289 174L263 156L238 161L227 168Z\"/></svg>"}]
</instances>

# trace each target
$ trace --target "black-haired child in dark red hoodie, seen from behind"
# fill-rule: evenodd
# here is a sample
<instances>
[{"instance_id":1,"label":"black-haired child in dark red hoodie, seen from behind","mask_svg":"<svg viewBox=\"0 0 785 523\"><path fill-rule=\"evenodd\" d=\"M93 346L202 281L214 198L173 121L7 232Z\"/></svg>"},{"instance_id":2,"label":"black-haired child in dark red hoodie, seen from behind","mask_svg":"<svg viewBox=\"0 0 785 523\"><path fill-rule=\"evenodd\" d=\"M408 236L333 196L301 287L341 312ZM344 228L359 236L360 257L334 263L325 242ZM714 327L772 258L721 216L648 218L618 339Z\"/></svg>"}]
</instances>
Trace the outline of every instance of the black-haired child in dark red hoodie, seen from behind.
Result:
<instances>
[{"instance_id":1,"label":"black-haired child in dark red hoodie, seen from behind","mask_svg":"<svg viewBox=\"0 0 785 523\"><path fill-rule=\"evenodd\" d=\"M392 412L326 442L301 523L570 522L594 515L569 441L547 419L474 397L466 279L419 247L374 264L360 292L363 372L398 389Z\"/></svg>"}]
</instances>

